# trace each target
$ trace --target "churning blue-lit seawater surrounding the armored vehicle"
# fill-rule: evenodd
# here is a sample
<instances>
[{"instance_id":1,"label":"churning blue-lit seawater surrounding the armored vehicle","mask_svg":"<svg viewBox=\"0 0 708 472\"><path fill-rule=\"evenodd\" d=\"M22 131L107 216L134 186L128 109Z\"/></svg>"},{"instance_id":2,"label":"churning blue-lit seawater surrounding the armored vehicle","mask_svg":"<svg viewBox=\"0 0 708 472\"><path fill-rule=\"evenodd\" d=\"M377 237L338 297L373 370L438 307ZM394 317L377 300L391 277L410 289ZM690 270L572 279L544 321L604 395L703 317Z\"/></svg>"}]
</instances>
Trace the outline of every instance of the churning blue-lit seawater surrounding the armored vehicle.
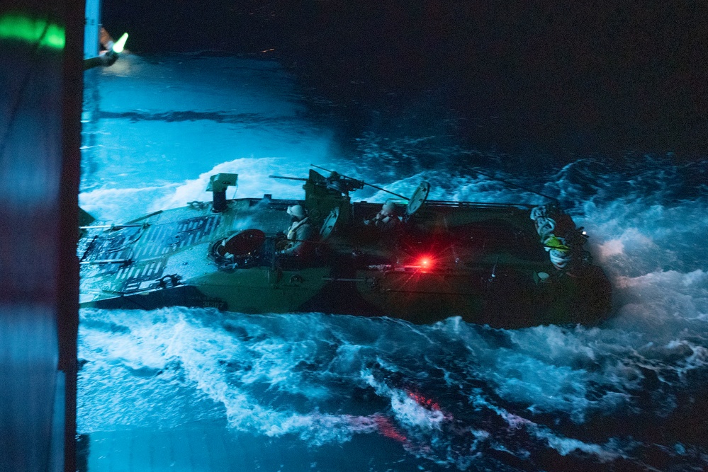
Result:
<instances>
[{"instance_id":1,"label":"churning blue-lit seawater surrounding the armored vehicle","mask_svg":"<svg viewBox=\"0 0 708 472\"><path fill-rule=\"evenodd\" d=\"M411 122L337 139L335 104L276 62L126 56L86 76L82 207L103 221L237 196L301 198L310 163L436 200L561 200L614 287L600 326L493 330L320 313L84 309L79 432L199 422L293 451L273 470L690 471L708 468L708 163L665 156L510 165ZM416 116L427 113L421 120ZM332 126L330 126L332 125ZM384 132L382 129L386 129ZM229 197L231 197L229 191ZM383 201L376 190L354 193ZM336 459L335 459L336 458ZM253 470L271 470L266 458ZM329 464L329 465L327 465ZM201 470L201 469L200 469Z\"/></svg>"}]
</instances>

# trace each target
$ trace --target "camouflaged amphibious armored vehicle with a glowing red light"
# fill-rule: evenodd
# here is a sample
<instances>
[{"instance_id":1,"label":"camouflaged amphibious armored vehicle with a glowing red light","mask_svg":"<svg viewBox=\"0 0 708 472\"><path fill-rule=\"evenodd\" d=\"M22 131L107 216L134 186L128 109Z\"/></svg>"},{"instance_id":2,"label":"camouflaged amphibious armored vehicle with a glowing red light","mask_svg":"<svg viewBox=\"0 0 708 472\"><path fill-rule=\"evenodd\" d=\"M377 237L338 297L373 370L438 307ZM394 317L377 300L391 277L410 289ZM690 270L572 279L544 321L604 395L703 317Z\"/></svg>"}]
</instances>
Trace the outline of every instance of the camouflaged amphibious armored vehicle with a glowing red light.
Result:
<instances>
[{"instance_id":1,"label":"camouflaged amphibious armored vehicle with a glowing red light","mask_svg":"<svg viewBox=\"0 0 708 472\"><path fill-rule=\"evenodd\" d=\"M349 197L369 185L361 180L315 170L271 177L302 181L304 200L227 200L237 175L220 173L207 189L212 202L82 226L81 306L315 311L413 323L460 316L495 327L595 323L609 313L611 287L583 248L585 231L554 202L433 201L421 183L410 198L393 194L398 224L384 229L365 224L381 202ZM315 231L303 242L308 251L286 255L283 244L301 242L283 234L293 205Z\"/></svg>"}]
</instances>

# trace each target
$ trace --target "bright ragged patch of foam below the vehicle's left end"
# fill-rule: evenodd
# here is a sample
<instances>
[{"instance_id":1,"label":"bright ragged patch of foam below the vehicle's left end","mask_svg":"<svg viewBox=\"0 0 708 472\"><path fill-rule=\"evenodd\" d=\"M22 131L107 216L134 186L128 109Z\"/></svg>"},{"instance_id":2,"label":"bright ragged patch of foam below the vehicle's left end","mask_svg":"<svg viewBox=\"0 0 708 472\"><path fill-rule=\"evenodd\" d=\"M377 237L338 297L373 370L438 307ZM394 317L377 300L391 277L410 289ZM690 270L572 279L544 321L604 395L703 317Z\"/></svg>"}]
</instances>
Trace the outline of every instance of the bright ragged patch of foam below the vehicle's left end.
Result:
<instances>
[{"instance_id":1,"label":"bright ragged patch of foam below the vehicle's left end","mask_svg":"<svg viewBox=\"0 0 708 472\"><path fill-rule=\"evenodd\" d=\"M154 421L150 411L170 401L172 408L160 413L166 427L193 418L194 412L203 408L207 417L209 412L223 411L235 430L269 436L298 434L313 445L347 441L352 434L376 431L376 421L371 416L317 411L303 414L291 408L273 408L251 393L252 387L258 390L266 386L266 397L271 397L271 401L278 391L305 396L310 401L326 396L324 388L309 382L296 369L313 357L317 347L313 341L288 342L263 331L263 326L240 321L235 326L257 338L242 342L220 328L220 316L210 311L192 315L180 308L82 312L79 355L88 367L84 367L80 381L84 388L79 404L80 431L150 425ZM171 365L178 366L179 372L163 375ZM136 373L141 369L147 371L144 379ZM106 384L87 386L89 375L94 376L94 381L109 377ZM137 390L136 383L140 387ZM111 395L111 403L101 404ZM184 398L201 402L187 408ZM211 407L204 403L207 399Z\"/></svg>"}]
</instances>

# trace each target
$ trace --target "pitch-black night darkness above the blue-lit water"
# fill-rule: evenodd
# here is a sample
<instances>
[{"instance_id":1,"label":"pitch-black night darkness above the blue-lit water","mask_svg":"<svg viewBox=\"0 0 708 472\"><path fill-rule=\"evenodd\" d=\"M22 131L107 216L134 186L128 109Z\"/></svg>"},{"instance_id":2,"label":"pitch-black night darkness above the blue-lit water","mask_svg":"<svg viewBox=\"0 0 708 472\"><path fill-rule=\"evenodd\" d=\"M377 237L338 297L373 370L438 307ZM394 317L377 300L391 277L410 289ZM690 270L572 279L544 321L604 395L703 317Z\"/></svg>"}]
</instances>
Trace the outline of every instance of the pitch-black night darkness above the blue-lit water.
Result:
<instances>
[{"instance_id":1,"label":"pitch-black night darkness above the blue-lit water","mask_svg":"<svg viewBox=\"0 0 708 472\"><path fill-rule=\"evenodd\" d=\"M103 23L142 53L275 48L305 88L391 117L434 100L471 146L708 154L704 2L153 3L105 0Z\"/></svg>"}]
</instances>

